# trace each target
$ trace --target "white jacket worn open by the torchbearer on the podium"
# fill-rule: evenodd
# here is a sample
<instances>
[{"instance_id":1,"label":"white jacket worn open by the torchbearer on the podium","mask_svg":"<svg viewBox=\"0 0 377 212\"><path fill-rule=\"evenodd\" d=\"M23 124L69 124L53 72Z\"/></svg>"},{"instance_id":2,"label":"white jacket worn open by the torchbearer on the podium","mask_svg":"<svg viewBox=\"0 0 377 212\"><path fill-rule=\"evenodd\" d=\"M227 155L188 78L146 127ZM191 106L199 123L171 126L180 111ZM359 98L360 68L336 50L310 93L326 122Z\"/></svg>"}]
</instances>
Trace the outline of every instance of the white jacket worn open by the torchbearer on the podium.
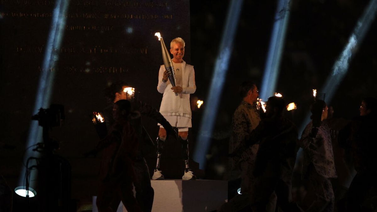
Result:
<instances>
[{"instance_id":1,"label":"white jacket worn open by the torchbearer on the podium","mask_svg":"<svg viewBox=\"0 0 377 212\"><path fill-rule=\"evenodd\" d=\"M196 91L194 66L182 62L182 92L175 95L171 89L173 86L169 80L162 82L165 66L161 65L158 73L157 91L162 95L160 113L166 115L177 115L191 118L190 94Z\"/></svg>"}]
</instances>

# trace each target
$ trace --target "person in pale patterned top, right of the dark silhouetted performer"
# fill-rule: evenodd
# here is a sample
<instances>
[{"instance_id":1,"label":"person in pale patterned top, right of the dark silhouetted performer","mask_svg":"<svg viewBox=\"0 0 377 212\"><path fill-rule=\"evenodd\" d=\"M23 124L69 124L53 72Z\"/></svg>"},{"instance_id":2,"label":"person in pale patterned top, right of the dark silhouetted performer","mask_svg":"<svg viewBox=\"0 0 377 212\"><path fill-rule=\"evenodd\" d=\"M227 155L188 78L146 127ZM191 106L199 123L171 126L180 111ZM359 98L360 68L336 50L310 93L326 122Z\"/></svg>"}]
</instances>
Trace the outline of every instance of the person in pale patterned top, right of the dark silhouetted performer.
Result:
<instances>
[{"instance_id":1,"label":"person in pale patterned top, right of the dark silhouetted performer","mask_svg":"<svg viewBox=\"0 0 377 212\"><path fill-rule=\"evenodd\" d=\"M336 178L333 146L330 129L325 122L328 108L323 100L316 100L311 106L312 120L302 133L299 142L303 149L302 177L309 180L315 199L308 212L334 211L334 191L330 178Z\"/></svg>"}]
</instances>

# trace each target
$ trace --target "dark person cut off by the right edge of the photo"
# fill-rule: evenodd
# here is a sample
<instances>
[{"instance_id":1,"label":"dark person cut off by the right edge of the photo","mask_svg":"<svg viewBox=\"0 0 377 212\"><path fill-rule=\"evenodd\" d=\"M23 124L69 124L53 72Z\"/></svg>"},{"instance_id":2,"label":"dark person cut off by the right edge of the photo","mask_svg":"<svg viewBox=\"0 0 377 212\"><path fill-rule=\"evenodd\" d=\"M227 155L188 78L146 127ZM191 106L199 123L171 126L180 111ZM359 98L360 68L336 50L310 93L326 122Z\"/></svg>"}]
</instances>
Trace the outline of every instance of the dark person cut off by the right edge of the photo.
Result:
<instances>
[{"instance_id":1,"label":"dark person cut off by the right edge of the photo","mask_svg":"<svg viewBox=\"0 0 377 212\"><path fill-rule=\"evenodd\" d=\"M351 122L350 147L357 171L347 193L347 211L374 211L377 186L377 100L364 98L360 106L360 117ZM374 197L374 200L373 200ZM367 204L366 201L371 203Z\"/></svg>"}]
</instances>

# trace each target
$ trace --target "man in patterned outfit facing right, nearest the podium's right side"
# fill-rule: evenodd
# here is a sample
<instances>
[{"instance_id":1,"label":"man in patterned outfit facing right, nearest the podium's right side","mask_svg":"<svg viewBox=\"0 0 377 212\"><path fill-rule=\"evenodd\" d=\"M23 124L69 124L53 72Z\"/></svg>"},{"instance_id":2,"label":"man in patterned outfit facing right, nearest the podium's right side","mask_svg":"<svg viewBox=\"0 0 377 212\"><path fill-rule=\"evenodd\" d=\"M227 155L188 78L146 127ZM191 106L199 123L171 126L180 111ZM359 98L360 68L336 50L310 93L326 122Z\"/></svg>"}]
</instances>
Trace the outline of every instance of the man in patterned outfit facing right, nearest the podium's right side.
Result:
<instances>
[{"instance_id":1,"label":"man in patterned outfit facing right, nearest the podium's right side","mask_svg":"<svg viewBox=\"0 0 377 212\"><path fill-rule=\"evenodd\" d=\"M239 87L239 95L242 101L233 114L229 153L233 153L239 146L246 146L246 139L250 137L250 134L261 121L261 114L256 106L259 96L256 84L251 81L244 81ZM258 147L259 144L254 143L247 146L239 157L230 158L228 178L234 181L237 178L241 178L242 195L236 195L228 203L222 205L222 212L238 211L250 205L250 193L253 189L251 186L254 182L252 172ZM274 207L275 200L271 200L271 202Z\"/></svg>"}]
</instances>

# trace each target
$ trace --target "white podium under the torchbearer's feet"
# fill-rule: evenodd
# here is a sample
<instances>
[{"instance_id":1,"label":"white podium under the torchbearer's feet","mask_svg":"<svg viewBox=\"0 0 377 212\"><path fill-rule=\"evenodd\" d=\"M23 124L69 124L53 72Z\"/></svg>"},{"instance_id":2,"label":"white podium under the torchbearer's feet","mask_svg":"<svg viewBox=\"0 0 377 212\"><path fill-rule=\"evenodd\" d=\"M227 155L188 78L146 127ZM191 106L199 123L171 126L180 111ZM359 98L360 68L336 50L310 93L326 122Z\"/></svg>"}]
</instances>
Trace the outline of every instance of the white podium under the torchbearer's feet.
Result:
<instances>
[{"instance_id":1,"label":"white podium under the torchbearer's feet","mask_svg":"<svg viewBox=\"0 0 377 212\"><path fill-rule=\"evenodd\" d=\"M227 201L228 181L152 180L153 212L209 212ZM93 212L98 212L93 197ZM120 203L117 212L127 212Z\"/></svg>"}]
</instances>

